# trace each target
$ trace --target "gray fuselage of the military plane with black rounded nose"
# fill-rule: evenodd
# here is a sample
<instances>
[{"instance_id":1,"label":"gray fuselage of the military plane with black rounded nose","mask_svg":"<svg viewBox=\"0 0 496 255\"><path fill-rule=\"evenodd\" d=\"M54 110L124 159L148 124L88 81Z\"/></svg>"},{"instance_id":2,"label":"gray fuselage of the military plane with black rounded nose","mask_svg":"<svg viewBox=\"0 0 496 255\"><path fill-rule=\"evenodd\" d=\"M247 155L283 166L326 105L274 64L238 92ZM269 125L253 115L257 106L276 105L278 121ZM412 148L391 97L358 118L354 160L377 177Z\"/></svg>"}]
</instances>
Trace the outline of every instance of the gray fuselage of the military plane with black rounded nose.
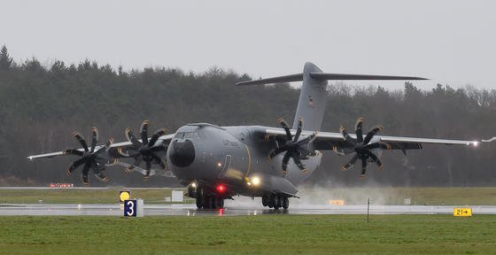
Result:
<instances>
[{"instance_id":1,"label":"gray fuselage of the military plane with black rounded nose","mask_svg":"<svg viewBox=\"0 0 496 255\"><path fill-rule=\"evenodd\" d=\"M169 143L167 166L185 186L198 182L214 191L217 185L225 185L229 191L226 197L294 195L298 192L295 186L320 165L322 154L303 160L306 173L290 160L288 174L284 176L283 153L267 158L278 142L265 139L260 135L264 132L265 128L260 126L217 127L205 123L183 126ZM254 178L258 179L257 183L252 183Z\"/></svg>"}]
</instances>

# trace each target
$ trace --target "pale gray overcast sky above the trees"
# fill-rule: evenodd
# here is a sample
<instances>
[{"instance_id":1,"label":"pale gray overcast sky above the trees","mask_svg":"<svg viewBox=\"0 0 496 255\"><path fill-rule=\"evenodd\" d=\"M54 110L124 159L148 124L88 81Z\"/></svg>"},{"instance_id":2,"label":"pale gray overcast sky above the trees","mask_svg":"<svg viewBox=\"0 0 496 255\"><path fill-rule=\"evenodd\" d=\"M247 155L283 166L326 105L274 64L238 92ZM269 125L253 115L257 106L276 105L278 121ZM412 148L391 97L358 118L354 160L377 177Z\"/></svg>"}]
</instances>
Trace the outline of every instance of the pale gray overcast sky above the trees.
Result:
<instances>
[{"instance_id":1,"label":"pale gray overcast sky above the trees","mask_svg":"<svg viewBox=\"0 0 496 255\"><path fill-rule=\"evenodd\" d=\"M2 1L0 44L19 61L211 66L258 78L403 74L496 89L495 1ZM372 82L371 82L372 83ZM377 83L374 83L377 84ZM379 83L402 87L402 81Z\"/></svg>"}]
</instances>

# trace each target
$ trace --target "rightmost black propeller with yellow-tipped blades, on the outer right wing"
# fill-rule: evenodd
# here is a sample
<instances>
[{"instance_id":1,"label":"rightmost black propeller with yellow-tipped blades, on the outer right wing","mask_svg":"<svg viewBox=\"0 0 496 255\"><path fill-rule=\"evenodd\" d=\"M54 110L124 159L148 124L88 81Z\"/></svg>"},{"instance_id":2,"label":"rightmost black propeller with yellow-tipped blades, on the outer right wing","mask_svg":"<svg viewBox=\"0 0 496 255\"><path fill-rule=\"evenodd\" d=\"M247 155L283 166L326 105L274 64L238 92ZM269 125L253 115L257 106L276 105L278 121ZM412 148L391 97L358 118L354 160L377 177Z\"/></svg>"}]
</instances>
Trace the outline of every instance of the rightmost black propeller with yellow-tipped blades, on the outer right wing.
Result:
<instances>
[{"instance_id":1,"label":"rightmost black propeller with yellow-tipped blades, on the outer right wing","mask_svg":"<svg viewBox=\"0 0 496 255\"><path fill-rule=\"evenodd\" d=\"M350 145L353 149L351 150L345 150L345 151L340 151L340 155L345 155L345 154L350 154L350 153L355 153L352 159L348 161L345 165L341 166L341 170L345 171L350 169L351 167L354 166L355 162L360 159L361 160L361 177L365 176L365 172L367 171L367 165L368 165L368 158L372 160L372 162L376 162L376 165L379 167L379 170L383 169L383 163L381 162L381 159L379 159L376 154L374 154L371 150L373 149L383 149L383 150L390 150L391 145L387 143L370 143L372 138L374 138L374 135L376 135L379 131L383 130L383 127L380 125L377 125L376 127L370 129L368 131L367 135L365 138L363 137L362 134L362 124L364 122L363 118L359 118L355 124L355 135L356 139L353 139L352 136L346 132L346 129L341 127L340 132L343 134L343 137L345 138L345 143ZM337 151L337 148L333 148L334 151Z\"/></svg>"}]
</instances>

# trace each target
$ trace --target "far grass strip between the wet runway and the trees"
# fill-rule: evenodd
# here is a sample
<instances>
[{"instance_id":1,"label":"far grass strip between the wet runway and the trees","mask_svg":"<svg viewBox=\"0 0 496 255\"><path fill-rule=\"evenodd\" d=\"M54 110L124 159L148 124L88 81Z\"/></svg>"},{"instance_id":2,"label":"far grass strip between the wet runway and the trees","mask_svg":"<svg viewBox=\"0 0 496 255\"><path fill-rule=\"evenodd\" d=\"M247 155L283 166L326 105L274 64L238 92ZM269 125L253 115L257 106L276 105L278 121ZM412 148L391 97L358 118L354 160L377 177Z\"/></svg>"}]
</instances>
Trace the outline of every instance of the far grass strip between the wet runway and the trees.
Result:
<instances>
[{"instance_id":1,"label":"far grass strip between the wet runway and the trees","mask_svg":"<svg viewBox=\"0 0 496 255\"><path fill-rule=\"evenodd\" d=\"M109 189L0 189L0 204L115 204L119 190ZM143 198L147 204L164 203L172 189L129 189L132 196ZM347 205L362 205L370 198L375 205L403 205L411 198L412 205L496 205L496 188L339 188L302 189L302 201L327 203L329 199L344 199ZM317 197L317 198L315 198ZM192 203L188 200L187 203Z\"/></svg>"}]
</instances>

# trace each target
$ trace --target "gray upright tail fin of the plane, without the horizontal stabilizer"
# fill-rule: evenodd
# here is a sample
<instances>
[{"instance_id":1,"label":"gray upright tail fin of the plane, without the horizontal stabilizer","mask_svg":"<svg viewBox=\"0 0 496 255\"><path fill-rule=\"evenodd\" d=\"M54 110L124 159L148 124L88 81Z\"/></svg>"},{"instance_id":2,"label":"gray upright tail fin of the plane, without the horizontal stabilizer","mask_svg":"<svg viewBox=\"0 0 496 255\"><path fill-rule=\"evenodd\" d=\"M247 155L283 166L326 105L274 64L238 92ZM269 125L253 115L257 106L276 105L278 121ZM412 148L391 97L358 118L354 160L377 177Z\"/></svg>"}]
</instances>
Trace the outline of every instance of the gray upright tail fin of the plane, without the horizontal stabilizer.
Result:
<instances>
[{"instance_id":1,"label":"gray upright tail fin of the plane, without the horizontal stabilizer","mask_svg":"<svg viewBox=\"0 0 496 255\"><path fill-rule=\"evenodd\" d=\"M293 120L293 128L298 128L298 119L304 121L303 129L315 131L322 127L327 99L327 80L316 80L310 73L322 73L313 63L303 67L303 85L299 93L298 107Z\"/></svg>"}]
</instances>

